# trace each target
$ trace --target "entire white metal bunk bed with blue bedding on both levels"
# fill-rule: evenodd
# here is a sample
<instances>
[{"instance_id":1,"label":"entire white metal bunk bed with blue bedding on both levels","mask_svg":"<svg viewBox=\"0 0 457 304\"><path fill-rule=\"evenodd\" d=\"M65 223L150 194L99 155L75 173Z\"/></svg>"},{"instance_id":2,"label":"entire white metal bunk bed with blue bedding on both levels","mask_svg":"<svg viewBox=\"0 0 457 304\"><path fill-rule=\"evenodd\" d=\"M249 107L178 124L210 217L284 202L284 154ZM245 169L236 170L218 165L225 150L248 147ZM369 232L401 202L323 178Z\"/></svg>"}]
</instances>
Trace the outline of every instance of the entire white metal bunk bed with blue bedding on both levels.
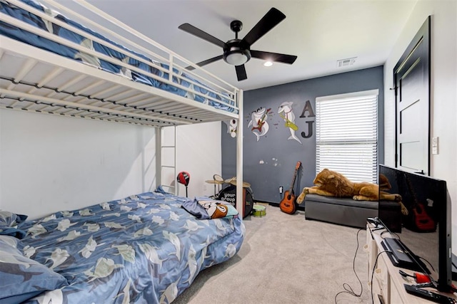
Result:
<instances>
[{"instance_id":1,"label":"entire white metal bunk bed with blue bedding on both levels","mask_svg":"<svg viewBox=\"0 0 457 304\"><path fill-rule=\"evenodd\" d=\"M95 6L75 2L110 28L56 1L0 0L1 109L155 128L241 122L242 90ZM195 70L184 68L189 65ZM200 271L236 254L245 234L241 216L201 219L184 203L189 200L159 187L32 221L0 214L0 260L14 265L2 268L2 278L15 269L0 288L8 290L0 302L171 303Z\"/></svg>"}]
</instances>

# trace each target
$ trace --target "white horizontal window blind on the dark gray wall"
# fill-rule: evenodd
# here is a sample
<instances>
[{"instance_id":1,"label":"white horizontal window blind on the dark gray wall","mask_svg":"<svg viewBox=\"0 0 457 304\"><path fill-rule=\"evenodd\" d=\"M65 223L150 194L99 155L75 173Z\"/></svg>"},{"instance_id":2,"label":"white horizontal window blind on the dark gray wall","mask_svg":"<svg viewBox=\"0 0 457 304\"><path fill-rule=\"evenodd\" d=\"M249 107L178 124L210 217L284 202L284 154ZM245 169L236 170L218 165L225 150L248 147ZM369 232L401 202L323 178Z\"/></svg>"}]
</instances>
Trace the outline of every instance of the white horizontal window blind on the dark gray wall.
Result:
<instances>
[{"instance_id":1,"label":"white horizontal window blind on the dark gray wall","mask_svg":"<svg viewBox=\"0 0 457 304\"><path fill-rule=\"evenodd\" d=\"M316 174L377 182L378 90L316 98Z\"/></svg>"}]
</instances>

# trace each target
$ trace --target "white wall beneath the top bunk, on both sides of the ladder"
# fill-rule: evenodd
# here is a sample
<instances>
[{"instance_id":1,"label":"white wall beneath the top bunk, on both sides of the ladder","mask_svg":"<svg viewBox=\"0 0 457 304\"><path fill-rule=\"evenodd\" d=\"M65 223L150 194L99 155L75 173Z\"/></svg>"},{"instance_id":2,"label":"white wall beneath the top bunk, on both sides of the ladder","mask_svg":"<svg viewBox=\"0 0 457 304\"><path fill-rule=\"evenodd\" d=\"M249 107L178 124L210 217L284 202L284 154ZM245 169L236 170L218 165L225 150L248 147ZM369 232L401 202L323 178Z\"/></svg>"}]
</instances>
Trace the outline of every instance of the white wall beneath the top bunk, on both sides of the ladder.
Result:
<instances>
[{"instance_id":1,"label":"white wall beneath the top bunk, on both sides of the ladder","mask_svg":"<svg viewBox=\"0 0 457 304\"><path fill-rule=\"evenodd\" d=\"M213 194L203 181L221 172L221 122L177 130L189 194ZM34 219L154 189L156 129L0 110L0 209Z\"/></svg>"}]
</instances>

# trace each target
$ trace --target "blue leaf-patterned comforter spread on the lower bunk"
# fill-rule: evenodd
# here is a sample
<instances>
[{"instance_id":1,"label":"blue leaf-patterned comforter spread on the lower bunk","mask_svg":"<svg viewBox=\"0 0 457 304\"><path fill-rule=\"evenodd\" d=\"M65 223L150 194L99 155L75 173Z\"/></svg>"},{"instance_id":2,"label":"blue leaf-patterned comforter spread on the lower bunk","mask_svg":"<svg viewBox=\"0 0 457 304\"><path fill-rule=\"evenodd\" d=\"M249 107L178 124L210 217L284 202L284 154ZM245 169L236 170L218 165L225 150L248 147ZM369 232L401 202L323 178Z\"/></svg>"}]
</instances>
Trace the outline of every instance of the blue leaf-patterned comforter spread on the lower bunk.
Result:
<instances>
[{"instance_id":1,"label":"blue leaf-patterned comforter spread on the lower bunk","mask_svg":"<svg viewBox=\"0 0 457 304\"><path fill-rule=\"evenodd\" d=\"M68 281L29 302L171 303L245 235L241 216L197 219L187 200L147 192L22 222L24 256Z\"/></svg>"}]
</instances>

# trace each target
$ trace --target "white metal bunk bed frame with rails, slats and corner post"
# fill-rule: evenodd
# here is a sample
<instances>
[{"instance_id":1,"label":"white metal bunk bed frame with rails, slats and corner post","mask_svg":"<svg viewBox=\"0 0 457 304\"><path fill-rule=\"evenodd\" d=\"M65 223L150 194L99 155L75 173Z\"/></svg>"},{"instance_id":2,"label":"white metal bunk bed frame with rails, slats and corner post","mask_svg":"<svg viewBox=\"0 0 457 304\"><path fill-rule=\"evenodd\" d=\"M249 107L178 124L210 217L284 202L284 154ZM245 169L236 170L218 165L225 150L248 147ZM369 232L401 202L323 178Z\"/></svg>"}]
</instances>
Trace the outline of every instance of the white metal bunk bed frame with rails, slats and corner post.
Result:
<instances>
[{"instance_id":1,"label":"white metal bunk bed frame with rails, slats and corner post","mask_svg":"<svg viewBox=\"0 0 457 304\"><path fill-rule=\"evenodd\" d=\"M82 25L91 28L102 36L109 37L129 50L144 54L144 56L151 58L152 62L136 56L134 53L129 53L125 49L118 48L90 33L81 31L69 23L54 19L54 16L34 9L22 1L7 1L29 11L31 14L39 16L41 19L74 31L90 41L96 41L104 46L109 46L109 48L124 53L126 56L134 58L137 61L141 61L141 63L145 63L151 66L151 68L159 69L163 73L168 74L168 79L146 72L134 65L129 65L129 63L111 58L1 13L0 20L4 23L16 28L22 28L25 31L61 45L74 48L93 58L114 63L122 68L133 70L159 80L161 83L186 90L190 95L201 95L192 86L186 88L173 81L174 78L182 79L182 72L185 70L187 75L191 75L192 78L196 79L196 81L193 81L186 78L187 82L200 86L203 84L205 89L219 95L220 98L215 99L206 95L201 96L229 106L233 112L220 110L211 105L161 90L161 88L154 88L144 83L134 82L123 75L109 73L95 66L51 53L3 35L0 35L0 108L41 112L66 117L79 117L90 120L107 120L157 128L236 119L238 120L236 167L237 181L239 182L239 185L237 184L236 205L238 206L238 211L242 211L242 90L226 83L226 81L218 78L216 75L207 72L198 65L161 46L151 38L144 36L134 30L134 28L130 28L125 23L114 19L84 0L74 0L74 2L79 4L83 11L90 11L99 16L101 20L108 21L110 28L101 26L99 23L86 18L84 14L67 9L66 6L62 6L57 1L42 0L41 3L51 9L58 10L69 19L79 21ZM114 28L111 28L111 26L114 26ZM119 35L119 32L121 32L119 29L129 31L136 38L140 38L141 44ZM162 56L159 53L165 53L165 55ZM163 68L161 65L154 63L154 61L165 63L169 68ZM185 65L191 65L195 70L186 70L184 68ZM223 100L229 100L230 103L226 103ZM160 172L158 174L156 173L156 176L160 177L160 174Z\"/></svg>"}]
</instances>

